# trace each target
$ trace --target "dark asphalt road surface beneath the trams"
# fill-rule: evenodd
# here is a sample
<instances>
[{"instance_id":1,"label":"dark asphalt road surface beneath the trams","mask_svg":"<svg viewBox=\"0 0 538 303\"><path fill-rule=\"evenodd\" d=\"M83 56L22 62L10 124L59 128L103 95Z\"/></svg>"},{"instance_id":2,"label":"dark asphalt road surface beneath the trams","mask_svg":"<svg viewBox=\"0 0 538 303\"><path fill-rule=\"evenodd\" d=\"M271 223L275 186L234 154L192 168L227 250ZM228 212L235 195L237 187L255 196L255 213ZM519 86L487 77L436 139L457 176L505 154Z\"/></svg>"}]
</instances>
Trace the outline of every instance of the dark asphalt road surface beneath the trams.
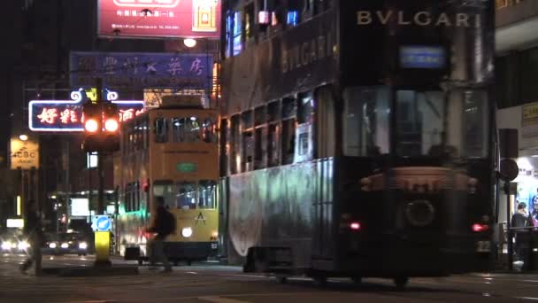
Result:
<instances>
[{"instance_id":1,"label":"dark asphalt road surface beneath the trams","mask_svg":"<svg viewBox=\"0 0 538 303\"><path fill-rule=\"evenodd\" d=\"M416 278L404 291L389 280L363 284L330 280L320 287L306 277L278 284L270 276L243 274L241 268L201 263L163 274L141 267L137 276L22 276L24 256L0 255L0 302L538 302L538 275L476 274ZM92 266L93 257L44 256L43 267ZM127 264L114 260L114 264ZM134 263L128 263L135 266Z\"/></svg>"}]
</instances>

